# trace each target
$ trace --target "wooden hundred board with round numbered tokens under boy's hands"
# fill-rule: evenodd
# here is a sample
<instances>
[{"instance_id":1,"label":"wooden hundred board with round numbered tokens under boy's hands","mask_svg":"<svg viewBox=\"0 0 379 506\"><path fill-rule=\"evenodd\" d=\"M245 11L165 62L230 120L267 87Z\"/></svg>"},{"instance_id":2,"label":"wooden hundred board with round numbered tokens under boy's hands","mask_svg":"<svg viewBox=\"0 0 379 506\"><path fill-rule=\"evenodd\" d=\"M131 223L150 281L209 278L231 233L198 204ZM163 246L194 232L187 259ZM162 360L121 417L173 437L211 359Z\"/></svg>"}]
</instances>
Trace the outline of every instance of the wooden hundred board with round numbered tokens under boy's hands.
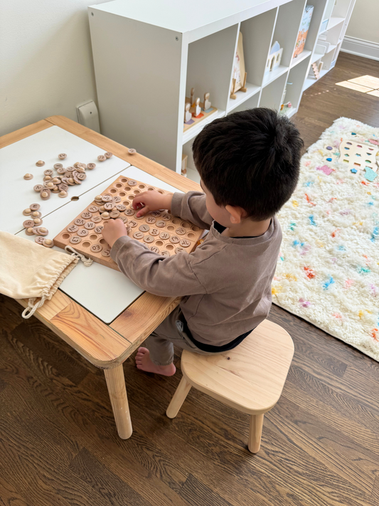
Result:
<instances>
[{"instance_id":1,"label":"wooden hundred board with round numbered tokens under boy's hands","mask_svg":"<svg viewBox=\"0 0 379 506\"><path fill-rule=\"evenodd\" d=\"M142 181L119 176L58 233L54 238L55 246L63 249L72 246L95 262L119 270L117 263L110 258L110 246L102 237L102 228L110 219L121 218L125 227L129 227L129 237L143 243L154 253L164 256L191 253L203 232L198 226L171 216L168 211L151 211L137 218L138 211L132 207L134 197L153 190L169 194L169 191Z\"/></svg>"}]
</instances>

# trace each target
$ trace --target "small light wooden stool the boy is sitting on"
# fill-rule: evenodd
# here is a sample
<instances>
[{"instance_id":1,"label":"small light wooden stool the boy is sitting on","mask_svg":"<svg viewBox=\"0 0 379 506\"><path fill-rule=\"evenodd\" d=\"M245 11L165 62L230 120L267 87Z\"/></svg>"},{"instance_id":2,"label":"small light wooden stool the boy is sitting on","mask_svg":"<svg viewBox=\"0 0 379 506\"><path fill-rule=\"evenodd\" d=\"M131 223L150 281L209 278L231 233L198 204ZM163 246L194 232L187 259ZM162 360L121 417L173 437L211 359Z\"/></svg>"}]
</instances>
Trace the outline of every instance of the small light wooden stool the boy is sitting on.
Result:
<instances>
[{"instance_id":1,"label":"small light wooden stool the boy is sitting on","mask_svg":"<svg viewBox=\"0 0 379 506\"><path fill-rule=\"evenodd\" d=\"M272 409L286 381L294 356L291 336L265 320L229 352L200 355L183 350L181 379L166 415L175 418L191 386L213 399L250 415L248 447L260 449L263 416Z\"/></svg>"}]
</instances>

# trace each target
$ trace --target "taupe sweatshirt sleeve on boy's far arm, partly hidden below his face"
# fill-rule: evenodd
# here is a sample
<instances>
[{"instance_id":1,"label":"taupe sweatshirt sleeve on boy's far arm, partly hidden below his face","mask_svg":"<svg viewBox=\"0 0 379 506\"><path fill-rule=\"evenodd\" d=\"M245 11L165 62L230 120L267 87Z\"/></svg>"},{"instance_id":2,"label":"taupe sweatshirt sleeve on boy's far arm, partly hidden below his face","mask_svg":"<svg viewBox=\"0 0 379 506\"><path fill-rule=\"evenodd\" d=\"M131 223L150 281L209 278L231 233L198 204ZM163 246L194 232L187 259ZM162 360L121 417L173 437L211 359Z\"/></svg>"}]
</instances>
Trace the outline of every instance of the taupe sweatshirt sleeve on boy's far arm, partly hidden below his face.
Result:
<instances>
[{"instance_id":1,"label":"taupe sweatshirt sleeve on boy's far arm, partly hidden below his face","mask_svg":"<svg viewBox=\"0 0 379 506\"><path fill-rule=\"evenodd\" d=\"M213 218L205 206L205 194L201 191L188 191L186 194L175 193L171 202L171 214L191 221L201 228L210 228L213 222Z\"/></svg>"}]
</instances>

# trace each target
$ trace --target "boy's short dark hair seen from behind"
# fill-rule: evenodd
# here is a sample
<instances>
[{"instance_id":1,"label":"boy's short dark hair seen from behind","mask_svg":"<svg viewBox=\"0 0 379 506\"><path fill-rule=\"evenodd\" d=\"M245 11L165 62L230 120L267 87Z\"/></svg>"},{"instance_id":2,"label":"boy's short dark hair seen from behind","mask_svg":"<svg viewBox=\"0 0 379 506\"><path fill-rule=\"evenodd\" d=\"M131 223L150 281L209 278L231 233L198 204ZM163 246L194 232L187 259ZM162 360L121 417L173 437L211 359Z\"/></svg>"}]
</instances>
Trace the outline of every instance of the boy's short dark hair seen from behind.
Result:
<instances>
[{"instance_id":1,"label":"boy's short dark hair seen from behind","mask_svg":"<svg viewBox=\"0 0 379 506\"><path fill-rule=\"evenodd\" d=\"M193 142L193 161L218 206L240 206L255 221L271 218L297 185L299 130L265 107L206 125Z\"/></svg>"}]
</instances>

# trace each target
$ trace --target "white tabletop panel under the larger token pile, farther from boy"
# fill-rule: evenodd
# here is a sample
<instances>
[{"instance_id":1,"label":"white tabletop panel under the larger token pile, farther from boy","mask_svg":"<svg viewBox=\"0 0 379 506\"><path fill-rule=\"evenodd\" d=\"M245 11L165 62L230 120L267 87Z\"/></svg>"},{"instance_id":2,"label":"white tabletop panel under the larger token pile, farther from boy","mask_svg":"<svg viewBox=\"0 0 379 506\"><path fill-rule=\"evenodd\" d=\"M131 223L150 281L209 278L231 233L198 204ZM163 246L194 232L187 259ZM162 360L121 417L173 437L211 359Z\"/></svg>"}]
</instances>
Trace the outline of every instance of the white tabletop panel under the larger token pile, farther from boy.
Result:
<instances>
[{"instance_id":1,"label":"white tabletop panel under the larger token pile, farther from boy","mask_svg":"<svg viewBox=\"0 0 379 506\"><path fill-rule=\"evenodd\" d=\"M67 158L58 159L60 153L66 153ZM40 204L40 211L44 217L61 206L65 206L73 196L84 194L130 165L114 155L105 162L99 162L97 160L99 154L104 154L104 151L95 144L56 126L1 148L0 201L3 209L9 212L0 215L0 230L9 233L21 231L23 221L28 219L28 216L23 216L22 211L30 204ZM45 165L37 167L38 160L43 160ZM63 164L63 167L70 167L75 162L84 164L93 162L96 167L86 171L87 179L82 184L69 186L68 196L65 199L60 199L58 194L52 193L50 199L42 200L33 190L33 186L43 183L43 171L53 169L53 165L57 163ZM33 174L33 179L23 179L27 173ZM55 170L54 174L57 175Z\"/></svg>"}]
</instances>

